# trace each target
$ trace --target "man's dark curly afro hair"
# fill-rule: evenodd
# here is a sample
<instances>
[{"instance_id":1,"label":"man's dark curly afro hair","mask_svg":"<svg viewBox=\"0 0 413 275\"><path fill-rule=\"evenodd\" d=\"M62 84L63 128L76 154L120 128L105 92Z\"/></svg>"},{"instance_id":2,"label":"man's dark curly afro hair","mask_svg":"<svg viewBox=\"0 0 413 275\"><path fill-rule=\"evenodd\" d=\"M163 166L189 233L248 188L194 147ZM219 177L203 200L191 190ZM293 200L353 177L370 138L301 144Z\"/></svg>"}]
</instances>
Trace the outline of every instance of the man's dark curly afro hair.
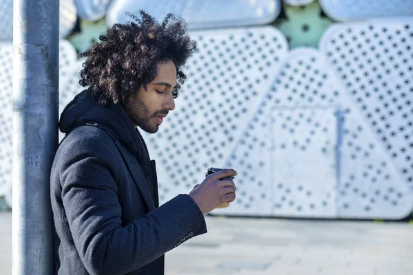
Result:
<instances>
[{"instance_id":1,"label":"man's dark curly afro hair","mask_svg":"<svg viewBox=\"0 0 413 275\"><path fill-rule=\"evenodd\" d=\"M87 57L79 84L89 87L100 104L122 102L143 85L147 90L157 74L157 65L173 61L177 82L173 98L178 96L185 74L180 69L196 50L187 34L187 23L168 14L162 24L144 11L141 19L127 13L135 22L114 24L82 56Z\"/></svg>"}]
</instances>

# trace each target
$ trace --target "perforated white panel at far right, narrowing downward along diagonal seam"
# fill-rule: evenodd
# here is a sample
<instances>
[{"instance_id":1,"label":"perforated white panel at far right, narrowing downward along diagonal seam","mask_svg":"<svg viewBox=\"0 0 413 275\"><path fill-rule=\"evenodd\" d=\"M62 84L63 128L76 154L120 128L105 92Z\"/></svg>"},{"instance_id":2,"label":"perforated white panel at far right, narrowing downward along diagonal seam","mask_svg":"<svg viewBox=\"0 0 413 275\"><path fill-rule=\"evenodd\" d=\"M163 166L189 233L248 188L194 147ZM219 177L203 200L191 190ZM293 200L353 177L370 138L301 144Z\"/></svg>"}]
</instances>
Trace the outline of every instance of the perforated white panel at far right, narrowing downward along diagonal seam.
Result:
<instances>
[{"instance_id":1,"label":"perforated white panel at far right, narrowing downward along diagonal seam","mask_svg":"<svg viewBox=\"0 0 413 275\"><path fill-rule=\"evenodd\" d=\"M413 18L334 25L320 47L413 191Z\"/></svg>"}]
</instances>

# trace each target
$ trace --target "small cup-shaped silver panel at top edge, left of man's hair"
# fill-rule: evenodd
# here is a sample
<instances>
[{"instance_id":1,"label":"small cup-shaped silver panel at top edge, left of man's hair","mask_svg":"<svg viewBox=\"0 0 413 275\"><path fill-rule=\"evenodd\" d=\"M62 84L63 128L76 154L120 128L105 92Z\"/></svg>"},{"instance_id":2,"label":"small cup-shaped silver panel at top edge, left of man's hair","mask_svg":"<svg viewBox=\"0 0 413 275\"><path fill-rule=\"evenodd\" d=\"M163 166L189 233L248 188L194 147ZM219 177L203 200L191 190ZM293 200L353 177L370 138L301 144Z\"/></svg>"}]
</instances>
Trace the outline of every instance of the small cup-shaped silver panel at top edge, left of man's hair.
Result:
<instances>
[{"instance_id":1,"label":"small cup-shaped silver panel at top edge, left of man's hair","mask_svg":"<svg viewBox=\"0 0 413 275\"><path fill-rule=\"evenodd\" d=\"M106 10L112 0L75 0L78 17L89 21L97 21L105 17Z\"/></svg>"}]
</instances>

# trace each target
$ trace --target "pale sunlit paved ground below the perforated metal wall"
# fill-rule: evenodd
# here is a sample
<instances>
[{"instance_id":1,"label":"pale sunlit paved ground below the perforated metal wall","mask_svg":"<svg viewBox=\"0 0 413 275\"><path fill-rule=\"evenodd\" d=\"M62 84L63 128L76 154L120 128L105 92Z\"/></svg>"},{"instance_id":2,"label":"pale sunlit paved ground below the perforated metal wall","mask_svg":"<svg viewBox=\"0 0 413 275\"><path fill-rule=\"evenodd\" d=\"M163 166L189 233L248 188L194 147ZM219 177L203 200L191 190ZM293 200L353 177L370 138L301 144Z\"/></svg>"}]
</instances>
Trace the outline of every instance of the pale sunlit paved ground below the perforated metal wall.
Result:
<instances>
[{"instance_id":1,"label":"pale sunlit paved ground below the perforated metal wall","mask_svg":"<svg viewBox=\"0 0 413 275\"><path fill-rule=\"evenodd\" d=\"M209 233L166 255L166 275L412 275L413 225L207 217ZM0 213L0 275L11 274L11 214Z\"/></svg>"}]
</instances>

